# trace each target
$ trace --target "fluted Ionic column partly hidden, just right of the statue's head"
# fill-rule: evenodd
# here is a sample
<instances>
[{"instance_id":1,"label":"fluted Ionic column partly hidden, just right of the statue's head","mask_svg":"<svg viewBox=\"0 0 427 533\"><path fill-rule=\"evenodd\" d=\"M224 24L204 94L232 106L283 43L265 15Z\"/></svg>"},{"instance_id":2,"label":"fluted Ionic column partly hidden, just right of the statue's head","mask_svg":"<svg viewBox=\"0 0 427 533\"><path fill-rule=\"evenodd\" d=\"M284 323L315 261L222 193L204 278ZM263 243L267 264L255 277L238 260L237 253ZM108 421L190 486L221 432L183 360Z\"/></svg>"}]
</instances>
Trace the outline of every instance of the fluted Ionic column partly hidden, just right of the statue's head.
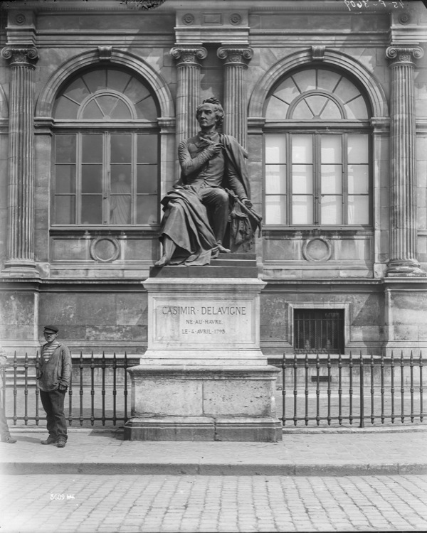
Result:
<instances>
[{"instance_id":1,"label":"fluted Ionic column partly hidden, just right of the statue's head","mask_svg":"<svg viewBox=\"0 0 427 533\"><path fill-rule=\"evenodd\" d=\"M248 136L248 102L246 97L246 70L253 57L249 47L221 46L216 53L225 60L224 68L224 123L223 131L236 137L246 149Z\"/></svg>"}]
</instances>

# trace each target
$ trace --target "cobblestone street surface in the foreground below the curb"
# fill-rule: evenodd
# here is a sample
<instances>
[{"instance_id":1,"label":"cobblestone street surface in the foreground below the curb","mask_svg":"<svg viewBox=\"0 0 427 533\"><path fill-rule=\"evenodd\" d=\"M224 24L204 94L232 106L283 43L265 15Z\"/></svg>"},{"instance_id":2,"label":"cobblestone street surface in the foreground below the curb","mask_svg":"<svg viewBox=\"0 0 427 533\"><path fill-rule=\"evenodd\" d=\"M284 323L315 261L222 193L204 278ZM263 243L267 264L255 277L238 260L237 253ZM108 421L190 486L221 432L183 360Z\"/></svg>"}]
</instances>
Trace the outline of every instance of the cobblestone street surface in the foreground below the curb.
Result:
<instances>
[{"instance_id":1,"label":"cobblestone street surface in the foreground below the curb","mask_svg":"<svg viewBox=\"0 0 427 533\"><path fill-rule=\"evenodd\" d=\"M4 475L3 533L425 531L427 476Z\"/></svg>"}]
</instances>

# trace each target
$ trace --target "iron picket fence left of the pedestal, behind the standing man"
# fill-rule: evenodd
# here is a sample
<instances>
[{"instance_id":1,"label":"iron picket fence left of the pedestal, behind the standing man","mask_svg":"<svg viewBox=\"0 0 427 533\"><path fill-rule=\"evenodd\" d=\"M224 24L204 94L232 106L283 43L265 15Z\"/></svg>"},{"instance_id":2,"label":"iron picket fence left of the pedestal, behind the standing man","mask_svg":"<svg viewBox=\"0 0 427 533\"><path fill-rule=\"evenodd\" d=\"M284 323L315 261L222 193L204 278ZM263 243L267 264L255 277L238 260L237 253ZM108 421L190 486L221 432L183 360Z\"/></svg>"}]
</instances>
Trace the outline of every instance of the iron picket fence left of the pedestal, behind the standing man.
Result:
<instances>
[{"instance_id":1,"label":"iron picket fence left of the pedestal, behind the standing man","mask_svg":"<svg viewBox=\"0 0 427 533\"><path fill-rule=\"evenodd\" d=\"M3 383L2 402L5 406L6 418L16 426L19 421L28 425L35 421L36 425L46 415L41 406L40 389L36 381L39 367L38 353L36 359L18 357L2 371ZM73 357L73 375L65 397L65 418L70 426L94 426L95 423L125 423L128 415L128 374L126 369L132 366L127 354L117 357ZM13 394L11 394L13 393ZM78 398L75 399L75 394ZM9 422L10 423L10 422Z\"/></svg>"}]
</instances>

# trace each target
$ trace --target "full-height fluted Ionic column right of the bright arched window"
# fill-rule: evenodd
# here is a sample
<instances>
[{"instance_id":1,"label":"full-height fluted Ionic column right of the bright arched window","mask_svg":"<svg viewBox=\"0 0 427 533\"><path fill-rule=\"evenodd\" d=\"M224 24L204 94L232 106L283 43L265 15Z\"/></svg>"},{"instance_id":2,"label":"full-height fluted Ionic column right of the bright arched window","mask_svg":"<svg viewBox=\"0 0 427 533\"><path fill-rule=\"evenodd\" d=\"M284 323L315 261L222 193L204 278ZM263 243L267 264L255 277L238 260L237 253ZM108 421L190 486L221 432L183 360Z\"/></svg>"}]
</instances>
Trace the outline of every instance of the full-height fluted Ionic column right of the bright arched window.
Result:
<instances>
[{"instance_id":1,"label":"full-height fluted Ionic column right of the bright arched window","mask_svg":"<svg viewBox=\"0 0 427 533\"><path fill-rule=\"evenodd\" d=\"M391 60L390 261L387 276L426 276L417 261L414 60L419 46L389 46Z\"/></svg>"}]
</instances>

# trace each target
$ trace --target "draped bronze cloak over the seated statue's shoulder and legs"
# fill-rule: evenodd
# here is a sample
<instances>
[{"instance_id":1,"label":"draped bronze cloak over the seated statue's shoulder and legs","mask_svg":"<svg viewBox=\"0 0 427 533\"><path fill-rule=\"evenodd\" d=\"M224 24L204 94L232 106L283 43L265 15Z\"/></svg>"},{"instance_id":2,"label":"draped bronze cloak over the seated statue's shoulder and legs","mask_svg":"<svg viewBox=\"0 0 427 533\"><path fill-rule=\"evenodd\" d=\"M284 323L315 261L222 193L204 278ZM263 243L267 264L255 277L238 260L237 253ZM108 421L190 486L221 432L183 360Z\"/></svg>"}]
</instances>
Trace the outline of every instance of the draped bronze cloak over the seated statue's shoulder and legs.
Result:
<instances>
[{"instance_id":1,"label":"draped bronze cloak over the seated statue's shoulder and legs","mask_svg":"<svg viewBox=\"0 0 427 533\"><path fill-rule=\"evenodd\" d=\"M234 137L219 134L220 143L224 146L224 154L228 158L238 179L241 181L248 198L251 198L251 189L246 172L246 151L238 144ZM159 239L162 242L165 235L172 239L176 250L170 264L209 264L212 252L216 249L216 238L209 225L206 207L201 203L198 188L186 184L186 178L181 173L181 183L176 185L162 199L164 216L160 228ZM224 177L223 188L228 188L227 178ZM237 244L253 242L253 233L256 227L260 228L260 217L253 210L246 208L235 194L229 192L231 207L230 241L236 237ZM170 206L174 205L174 209ZM236 223L238 220L238 223ZM244 229L242 230L242 227ZM238 231L236 234L236 228Z\"/></svg>"}]
</instances>

